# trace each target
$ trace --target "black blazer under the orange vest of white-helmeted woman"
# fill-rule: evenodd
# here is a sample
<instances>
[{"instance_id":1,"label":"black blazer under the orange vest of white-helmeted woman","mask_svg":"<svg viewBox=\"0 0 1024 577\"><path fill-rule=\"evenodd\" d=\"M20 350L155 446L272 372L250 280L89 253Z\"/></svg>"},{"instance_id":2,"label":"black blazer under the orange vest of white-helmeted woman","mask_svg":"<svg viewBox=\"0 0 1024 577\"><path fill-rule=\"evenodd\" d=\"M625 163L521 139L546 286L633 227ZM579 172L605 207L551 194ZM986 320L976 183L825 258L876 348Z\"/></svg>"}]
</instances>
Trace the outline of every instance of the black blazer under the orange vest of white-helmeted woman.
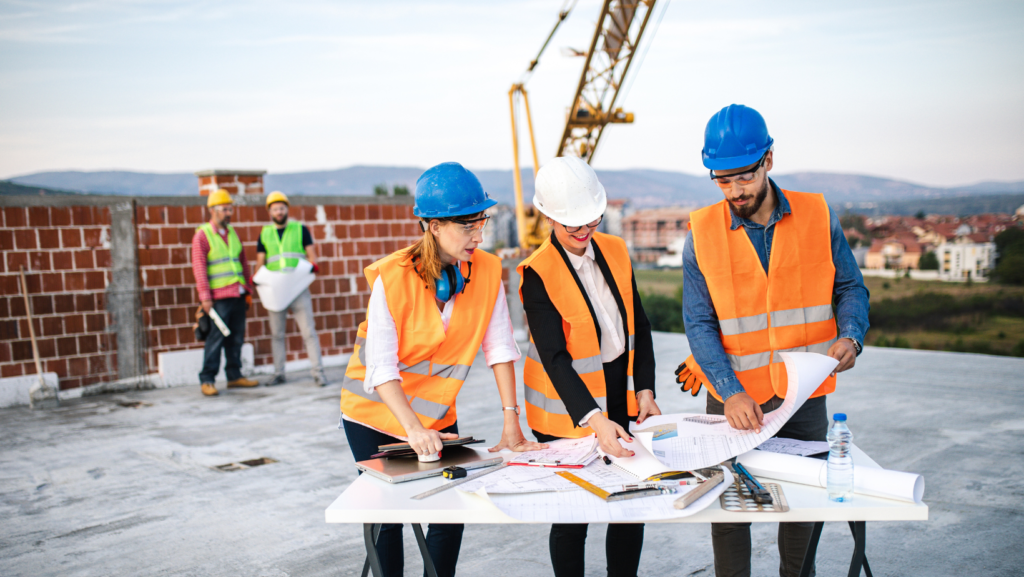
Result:
<instances>
[{"instance_id":1,"label":"black blazer under the orange vest of white-helmeted woman","mask_svg":"<svg viewBox=\"0 0 1024 577\"><path fill-rule=\"evenodd\" d=\"M604 276L604 280L608 283L608 287L615 297L615 303L618 305L618 315L623 319L623 334L627 335L628 338L630 331L622 293L615 285L615 279L611 276L611 271L608 269L608 261L601 254L601 249L597 242L592 239L591 243L594 245L594 261L597 263L598 269L601 270L601 275ZM597 314L594 312L594 305L587 295L587 290L584 288L583 282L577 275L575 269L572 267L565 249L554 238L554 235L552 235L551 244L558 250L558 254L561 255L565 266L569 270L572 279L575 281L577 290L583 294L584 300L587 301L587 307L590 310L590 316L594 320L594 327L597 329L597 338L600 341L601 325L597 322ZM634 328L633 384L637 391L647 389L653 391L654 343L650 333L650 321L647 320L647 315L643 311L643 304L640 302L636 276L631 277L633 285ZM571 290L571 287L553 287L553 289ZM594 396L587 389L587 384L580 378L575 370L572 369L572 357L566 348L565 333L562 330L562 316L555 308L551 297L548 296L548 290L544 286L541 276L531 269L525 269L522 273L522 304L523 310L526 312L526 320L529 323L529 332L534 337L537 352L541 356L541 363L544 365L544 370L548 372L548 377L551 378L558 397L565 404L565 408L572 418L573 425L579 426L580 420L587 416L587 413L599 407L597 402L594 401ZM608 395L611 395L614 391L625 390L626 383L608 382L606 383L606 388Z\"/></svg>"}]
</instances>

